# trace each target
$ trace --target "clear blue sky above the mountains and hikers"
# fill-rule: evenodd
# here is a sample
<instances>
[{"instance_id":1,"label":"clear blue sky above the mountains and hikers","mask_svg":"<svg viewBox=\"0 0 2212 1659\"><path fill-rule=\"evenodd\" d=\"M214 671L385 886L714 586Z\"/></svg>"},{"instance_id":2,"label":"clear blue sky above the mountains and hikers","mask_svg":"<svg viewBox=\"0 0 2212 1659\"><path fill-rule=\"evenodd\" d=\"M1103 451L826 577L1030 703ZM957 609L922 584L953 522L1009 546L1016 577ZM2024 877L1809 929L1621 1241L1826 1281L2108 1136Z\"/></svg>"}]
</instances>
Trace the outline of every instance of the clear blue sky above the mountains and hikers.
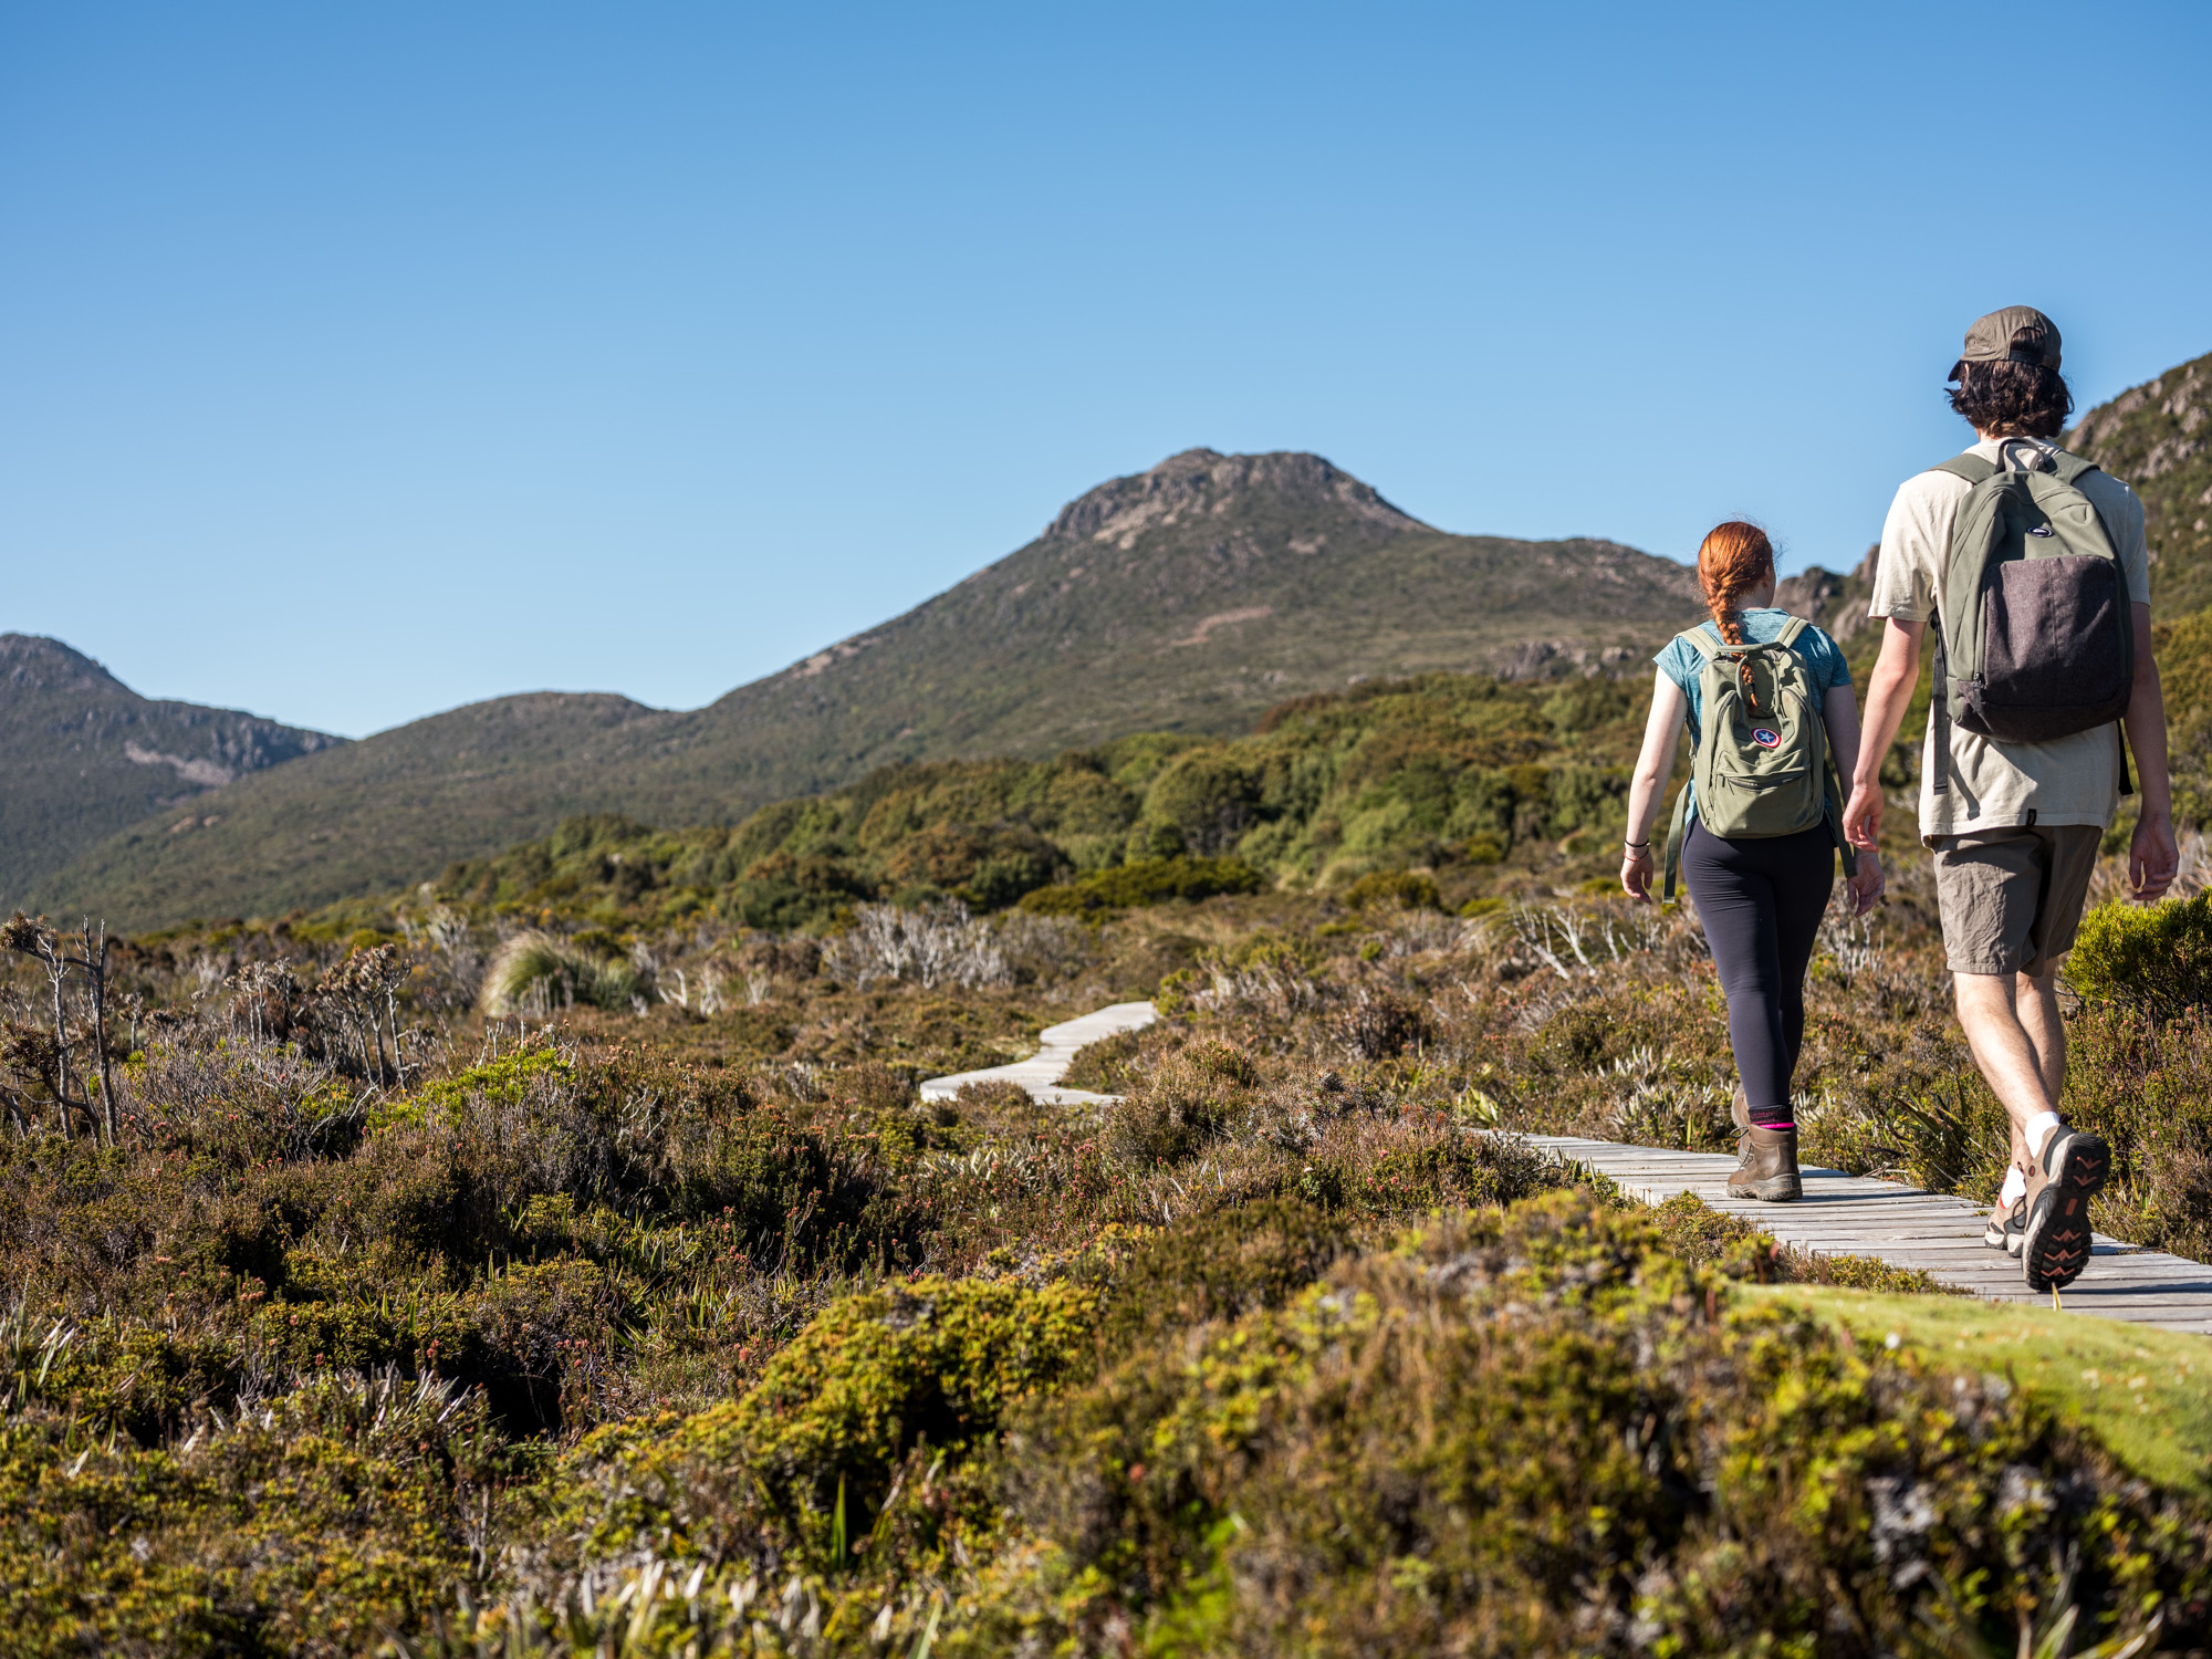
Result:
<instances>
[{"instance_id":1,"label":"clear blue sky above the mountains and hikers","mask_svg":"<svg viewBox=\"0 0 2212 1659\"><path fill-rule=\"evenodd\" d=\"M2212 349L2212 7L0 4L0 628L697 706L1192 445L1849 564ZM1469 595L1480 604L1480 595Z\"/></svg>"}]
</instances>

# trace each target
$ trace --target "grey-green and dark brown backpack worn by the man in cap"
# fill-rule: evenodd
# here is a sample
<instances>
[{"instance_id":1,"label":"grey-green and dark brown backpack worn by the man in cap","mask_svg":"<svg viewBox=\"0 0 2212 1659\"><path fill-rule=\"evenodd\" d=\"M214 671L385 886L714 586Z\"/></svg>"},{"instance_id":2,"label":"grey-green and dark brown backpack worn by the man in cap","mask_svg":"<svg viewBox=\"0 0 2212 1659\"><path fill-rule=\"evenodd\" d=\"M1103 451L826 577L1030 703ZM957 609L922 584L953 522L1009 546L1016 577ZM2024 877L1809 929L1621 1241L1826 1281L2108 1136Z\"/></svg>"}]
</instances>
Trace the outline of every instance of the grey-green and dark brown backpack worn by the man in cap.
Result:
<instances>
[{"instance_id":1,"label":"grey-green and dark brown backpack worn by the man in cap","mask_svg":"<svg viewBox=\"0 0 2212 1659\"><path fill-rule=\"evenodd\" d=\"M2079 489L2095 462L2006 438L1995 462L1964 453L1936 471L1969 484L1936 626L1931 787L1944 794L1953 721L2000 743L2117 723L2135 690L2135 611L2112 538Z\"/></svg>"}]
</instances>

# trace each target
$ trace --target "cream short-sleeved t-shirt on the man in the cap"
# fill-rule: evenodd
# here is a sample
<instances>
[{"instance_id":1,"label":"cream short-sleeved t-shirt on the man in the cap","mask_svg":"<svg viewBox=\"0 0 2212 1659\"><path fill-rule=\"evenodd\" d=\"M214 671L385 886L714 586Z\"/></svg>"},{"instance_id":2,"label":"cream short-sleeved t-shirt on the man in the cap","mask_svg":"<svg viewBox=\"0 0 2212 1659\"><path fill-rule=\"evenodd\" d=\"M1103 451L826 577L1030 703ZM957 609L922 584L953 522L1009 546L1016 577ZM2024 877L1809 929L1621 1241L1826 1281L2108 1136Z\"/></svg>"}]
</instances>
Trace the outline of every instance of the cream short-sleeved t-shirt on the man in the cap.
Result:
<instances>
[{"instance_id":1,"label":"cream short-sleeved t-shirt on the man in the cap","mask_svg":"<svg viewBox=\"0 0 2212 1659\"><path fill-rule=\"evenodd\" d=\"M2006 438L2055 451L2039 438ZM1966 453L1997 460L1997 438L1982 438ZM1966 500L1966 480L1955 473L1916 473L1898 487L1882 522L1882 555L1874 568L1874 604L1867 615L1898 622L1929 622L1942 593L1942 560L1951 546L1951 522ZM2150 602L2150 549L2143 544L2143 502L2110 473L2084 473L2088 495L2106 533L2112 538L2119 564L2128 577L2128 597ZM2148 650L2150 641L2139 641ZM2119 805L2119 732L2099 726L2048 743L2002 743L1993 737L1951 726L1951 790L1936 794L1931 765L1936 723L1920 757L1920 838L1973 834L2022 825L2028 812L2035 823L2093 823L2110 827Z\"/></svg>"}]
</instances>

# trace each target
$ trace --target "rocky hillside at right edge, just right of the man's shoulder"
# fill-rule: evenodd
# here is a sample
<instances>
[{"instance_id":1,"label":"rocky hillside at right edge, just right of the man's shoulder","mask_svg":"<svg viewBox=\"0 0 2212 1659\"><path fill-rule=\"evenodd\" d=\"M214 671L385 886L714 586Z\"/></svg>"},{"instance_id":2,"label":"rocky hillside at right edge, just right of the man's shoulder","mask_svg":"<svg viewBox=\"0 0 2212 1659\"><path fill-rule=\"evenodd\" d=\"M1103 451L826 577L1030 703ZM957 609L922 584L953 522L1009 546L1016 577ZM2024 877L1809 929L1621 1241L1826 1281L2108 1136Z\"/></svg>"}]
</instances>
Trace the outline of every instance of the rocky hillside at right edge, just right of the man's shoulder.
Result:
<instances>
[{"instance_id":1,"label":"rocky hillside at right edge, just right of the man's shoulder","mask_svg":"<svg viewBox=\"0 0 2212 1659\"><path fill-rule=\"evenodd\" d=\"M2064 442L2143 498L2152 608L2212 606L2212 354L2097 405Z\"/></svg>"}]
</instances>

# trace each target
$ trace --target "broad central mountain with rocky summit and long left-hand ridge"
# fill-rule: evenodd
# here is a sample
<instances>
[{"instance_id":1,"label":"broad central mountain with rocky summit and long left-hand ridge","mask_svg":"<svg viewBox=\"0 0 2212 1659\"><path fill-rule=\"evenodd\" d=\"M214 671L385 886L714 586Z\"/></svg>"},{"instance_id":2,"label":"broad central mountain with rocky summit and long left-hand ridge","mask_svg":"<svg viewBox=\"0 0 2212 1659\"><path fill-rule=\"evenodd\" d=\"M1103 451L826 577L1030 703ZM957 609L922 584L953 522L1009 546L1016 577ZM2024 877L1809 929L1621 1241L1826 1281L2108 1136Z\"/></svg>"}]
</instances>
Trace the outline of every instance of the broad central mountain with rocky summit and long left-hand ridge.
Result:
<instances>
[{"instance_id":1,"label":"broad central mountain with rocky summit and long left-hand ridge","mask_svg":"<svg viewBox=\"0 0 2212 1659\"><path fill-rule=\"evenodd\" d=\"M480 703L146 821L42 883L144 927L436 876L580 812L734 823L880 765L1230 734L1360 677L1577 672L1697 613L1688 568L1604 540L1451 535L1318 456L1192 449L1071 502L936 599L692 712Z\"/></svg>"}]
</instances>

